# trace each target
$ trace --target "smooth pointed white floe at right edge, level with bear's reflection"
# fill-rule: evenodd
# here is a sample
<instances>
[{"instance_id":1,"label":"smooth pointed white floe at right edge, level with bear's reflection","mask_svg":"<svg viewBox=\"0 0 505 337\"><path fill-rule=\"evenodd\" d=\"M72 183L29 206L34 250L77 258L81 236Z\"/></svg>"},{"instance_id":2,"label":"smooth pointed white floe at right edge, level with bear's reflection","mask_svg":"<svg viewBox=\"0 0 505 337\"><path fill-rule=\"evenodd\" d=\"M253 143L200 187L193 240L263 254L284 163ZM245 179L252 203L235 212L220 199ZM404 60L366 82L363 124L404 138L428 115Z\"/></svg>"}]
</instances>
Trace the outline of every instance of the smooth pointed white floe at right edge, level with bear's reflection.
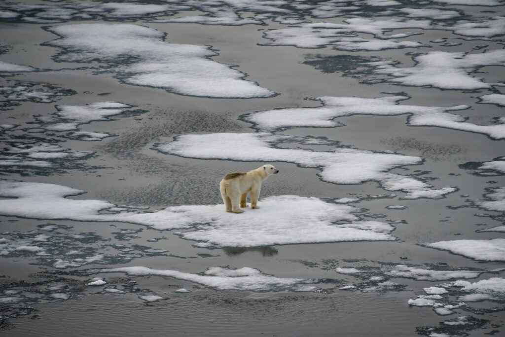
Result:
<instances>
[{"instance_id":1,"label":"smooth pointed white floe at right edge, level with bear's reflection","mask_svg":"<svg viewBox=\"0 0 505 337\"><path fill-rule=\"evenodd\" d=\"M440 241L426 246L476 260L505 261L505 239Z\"/></svg>"}]
</instances>

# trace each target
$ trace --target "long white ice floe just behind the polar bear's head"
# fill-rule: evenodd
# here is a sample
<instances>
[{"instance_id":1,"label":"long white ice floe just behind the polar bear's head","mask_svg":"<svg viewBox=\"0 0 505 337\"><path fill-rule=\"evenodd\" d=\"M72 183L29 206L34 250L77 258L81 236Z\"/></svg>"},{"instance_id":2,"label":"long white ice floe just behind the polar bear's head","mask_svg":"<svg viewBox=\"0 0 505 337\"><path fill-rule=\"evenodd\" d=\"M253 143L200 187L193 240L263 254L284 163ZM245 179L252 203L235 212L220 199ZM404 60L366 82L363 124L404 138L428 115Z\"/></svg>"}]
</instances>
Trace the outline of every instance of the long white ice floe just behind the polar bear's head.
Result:
<instances>
[{"instance_id":1,"label":"long white ice floe just behind the polar bear's head","mask_svg":"<svg viewBox=\"0 0 505 337\"><path fill-rule=\"evenodd\" d=\"M421 162L419 157L349 148L317 152L273 147L281 141L289 141L289 136L269 133L183 135L170 143L158 145L156 149L189 158L294 162L304 167L319 168L322 170L320 177L327 182L360 184L378 181L388 191L406 191L406 199L438 199L456 191L448 187L433 189L417 179L387 172L395 167L418 164Z\"/></svg>"}]
</instances>

